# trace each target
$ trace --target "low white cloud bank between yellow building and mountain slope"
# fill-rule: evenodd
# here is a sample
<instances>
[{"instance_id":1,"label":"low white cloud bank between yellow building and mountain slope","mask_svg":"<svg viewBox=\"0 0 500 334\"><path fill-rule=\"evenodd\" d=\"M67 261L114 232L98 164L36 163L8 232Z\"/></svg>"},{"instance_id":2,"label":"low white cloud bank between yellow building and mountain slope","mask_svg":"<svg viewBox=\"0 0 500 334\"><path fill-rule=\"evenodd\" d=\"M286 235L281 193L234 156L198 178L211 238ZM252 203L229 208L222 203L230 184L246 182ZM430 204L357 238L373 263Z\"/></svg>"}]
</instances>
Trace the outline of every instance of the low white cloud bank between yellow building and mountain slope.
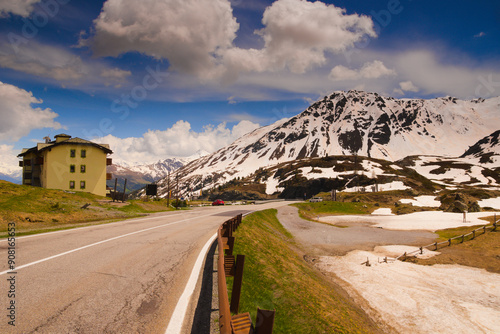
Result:
<instances>
[{"instance_id":1,"label":"low white cloud bank between yellow building and mountain slope","mask_svg":"<svg viewBox=\"0 0 500 334\"><path fill-rule=\"evenodd\" d=\"M110 144L117 162L150 163L167 157L189 157L198 151L212 153L258 127L259 124L243 120L232 128L223 122L196 132L189 122L180 120L169 129L149 130L139 138L108 135L98 141Z\"/></svg>"}]
</instances>

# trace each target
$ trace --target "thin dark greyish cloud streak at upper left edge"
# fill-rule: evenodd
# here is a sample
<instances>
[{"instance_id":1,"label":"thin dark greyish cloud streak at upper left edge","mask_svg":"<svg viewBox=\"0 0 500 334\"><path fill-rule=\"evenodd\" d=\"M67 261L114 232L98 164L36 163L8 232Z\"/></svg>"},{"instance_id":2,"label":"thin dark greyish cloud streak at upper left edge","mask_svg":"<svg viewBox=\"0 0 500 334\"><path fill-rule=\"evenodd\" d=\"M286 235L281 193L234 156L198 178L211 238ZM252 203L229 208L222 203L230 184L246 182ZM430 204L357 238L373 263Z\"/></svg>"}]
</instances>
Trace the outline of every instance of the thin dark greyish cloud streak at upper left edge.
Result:
<instances>
[{"instance_id":1,"label":"thin dark greyish cloud streak at upper left edge","mask_svg":"<svg viewBox=\"0 0 500 334\"><path fill-rule=\"evenodd\" d=\"M131 74L100 61L84 61L64 48L40 44L34 40L0 40L0 66L16 71L81 85L102 82L119 85Z\"/></svg>"}]
</instances>

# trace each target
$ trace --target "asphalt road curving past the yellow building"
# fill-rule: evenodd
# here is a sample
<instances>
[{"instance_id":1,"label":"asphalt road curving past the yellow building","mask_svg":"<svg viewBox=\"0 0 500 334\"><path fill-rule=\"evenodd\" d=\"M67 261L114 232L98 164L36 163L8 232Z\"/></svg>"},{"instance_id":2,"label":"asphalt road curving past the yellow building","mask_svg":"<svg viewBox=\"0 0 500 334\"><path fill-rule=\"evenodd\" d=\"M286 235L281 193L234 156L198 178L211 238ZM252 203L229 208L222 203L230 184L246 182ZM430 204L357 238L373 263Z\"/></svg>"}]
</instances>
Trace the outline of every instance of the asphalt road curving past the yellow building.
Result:
<instances>
[{"instance_id":1,"label":"asphalt road curving past the yellow building","mask_svg":"<svg viewBox=\"0 0 500 334\"><path fill-rule=\"evenodd\" d=\"M16 274L7 272L8 243L2 240L0 333L164 333L217 227L239 213L286 204L158 213L19 237Z\"/></svg>"}]
</instances>

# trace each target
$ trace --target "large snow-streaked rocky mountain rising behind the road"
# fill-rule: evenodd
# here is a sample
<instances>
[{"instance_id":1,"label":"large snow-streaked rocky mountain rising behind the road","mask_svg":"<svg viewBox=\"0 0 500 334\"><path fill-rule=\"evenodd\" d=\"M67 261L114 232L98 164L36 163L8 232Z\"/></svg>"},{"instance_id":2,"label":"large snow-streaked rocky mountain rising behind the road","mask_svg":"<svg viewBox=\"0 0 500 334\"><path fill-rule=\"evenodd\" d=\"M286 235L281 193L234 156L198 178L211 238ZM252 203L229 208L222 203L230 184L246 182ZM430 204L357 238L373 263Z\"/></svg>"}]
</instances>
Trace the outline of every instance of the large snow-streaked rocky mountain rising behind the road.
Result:
<instances>
[{"instance_id":1,"label":"large snow-streaked rocky mountain rising behind the road","mask_svg":"<svg viewBox=\"0 0 500 334\"><path fill-rule=\"evenodd\" d=\"M409 155L456 157L498 130L499 112L500 97L422 100L338 91L178 172L186 187L206 189L262 167L309 157L357 154L389 161Z\"/></svg>"}]
</instances>

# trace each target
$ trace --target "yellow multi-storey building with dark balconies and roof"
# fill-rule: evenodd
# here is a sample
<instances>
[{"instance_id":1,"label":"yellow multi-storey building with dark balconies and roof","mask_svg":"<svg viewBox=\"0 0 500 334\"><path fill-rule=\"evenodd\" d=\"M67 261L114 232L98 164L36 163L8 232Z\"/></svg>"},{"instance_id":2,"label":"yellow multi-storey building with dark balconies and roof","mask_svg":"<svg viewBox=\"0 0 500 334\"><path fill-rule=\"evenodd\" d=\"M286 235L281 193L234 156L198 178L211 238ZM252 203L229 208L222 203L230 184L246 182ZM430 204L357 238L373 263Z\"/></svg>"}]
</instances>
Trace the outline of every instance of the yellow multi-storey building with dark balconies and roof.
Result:
<instances>
[{"instance_id":1,"label":"yellow multi-storey building with dark balconies and roof","mask_svg":"<svg viewBox=\"0 0 500 334\"><path fill-rule=\"evenodd\" d=\"M106 196L106 166L112 154L108 144L96 144L66 134L46 138L45 143L23 149L23 184L50 189L85 191Z\"/></svg>"}]
</instances>

